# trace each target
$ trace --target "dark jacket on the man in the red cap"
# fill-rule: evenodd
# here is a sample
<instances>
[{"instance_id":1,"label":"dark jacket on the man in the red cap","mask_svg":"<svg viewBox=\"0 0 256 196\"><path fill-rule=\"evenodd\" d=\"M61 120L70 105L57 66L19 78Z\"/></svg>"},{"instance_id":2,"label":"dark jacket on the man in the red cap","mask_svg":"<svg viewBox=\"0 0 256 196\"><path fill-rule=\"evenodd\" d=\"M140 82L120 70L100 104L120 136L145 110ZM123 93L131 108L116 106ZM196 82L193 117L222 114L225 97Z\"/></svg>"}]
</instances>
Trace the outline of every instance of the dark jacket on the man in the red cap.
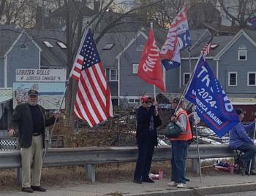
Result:
<instances>
[{"instance_id":1,"label":"dark jacket on the man in the red cap","mask_svg":"<svg viewBox=\"0 0 256 196\"><path fill-rule=\"evenodd\" d=\"M161 119L155 115L155 106L151 106L149 110L140 106L137 111L137 129L136 138L138 143L150 143L153 142L154 146L157 146L157 130L156 128L161 125ZM149 122L151 117L154 117L154 131L149 132Z\"/></svg>"}]
</instances>

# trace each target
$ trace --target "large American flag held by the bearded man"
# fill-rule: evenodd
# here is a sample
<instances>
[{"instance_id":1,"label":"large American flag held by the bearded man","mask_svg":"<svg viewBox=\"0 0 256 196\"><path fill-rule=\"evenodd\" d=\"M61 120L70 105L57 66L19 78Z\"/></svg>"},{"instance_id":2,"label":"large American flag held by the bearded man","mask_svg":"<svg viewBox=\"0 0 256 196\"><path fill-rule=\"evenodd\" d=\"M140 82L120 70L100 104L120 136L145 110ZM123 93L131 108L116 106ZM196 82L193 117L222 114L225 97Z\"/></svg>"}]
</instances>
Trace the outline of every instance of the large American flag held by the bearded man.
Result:
<instances>
[{"instance_id":1,"label":"large American flag held by the bearded man","mask_svg":"<svg viewBox=\"0 0 256 196\"><path fill-rule=\"evenodd\" d=\"M90 29L83 36L71 75L78 80L75 115L91 127L113 117L110 89Z\"/></svg>"}]
</instances>

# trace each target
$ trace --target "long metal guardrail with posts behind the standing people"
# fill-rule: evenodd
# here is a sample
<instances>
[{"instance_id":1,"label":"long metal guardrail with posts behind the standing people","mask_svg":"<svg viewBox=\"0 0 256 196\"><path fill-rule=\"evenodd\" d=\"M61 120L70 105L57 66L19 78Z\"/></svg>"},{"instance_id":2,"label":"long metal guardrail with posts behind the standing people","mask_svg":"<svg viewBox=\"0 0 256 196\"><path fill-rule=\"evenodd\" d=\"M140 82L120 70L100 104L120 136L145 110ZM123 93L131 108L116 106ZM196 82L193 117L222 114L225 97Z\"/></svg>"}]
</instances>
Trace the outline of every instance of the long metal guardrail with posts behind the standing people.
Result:
<instances>
[{"instance_id":1,"label":"long metal guardrail with posts behind the standing people","mask_svg":"<svg viewBox=\"0 0 256 196\"><path fill-rule=\"evenodd\" d=\"M202 144L199 148L201 159L236 157L236 152L225 144ZM87 179L95 181L94 165L103 163L135 162L137 156L138 149L134 146L48 149L43 167L85 165ZM160 146L155 149L153 160L170 160L170 156L170 146ZM188 158L192 159L192 170L198 172L199 162L196 145L191 145L189 147ZM18 179L20 179L20 167L19 151L0 152L0 169L18 168Z\"/></svg>"}]
</instances>

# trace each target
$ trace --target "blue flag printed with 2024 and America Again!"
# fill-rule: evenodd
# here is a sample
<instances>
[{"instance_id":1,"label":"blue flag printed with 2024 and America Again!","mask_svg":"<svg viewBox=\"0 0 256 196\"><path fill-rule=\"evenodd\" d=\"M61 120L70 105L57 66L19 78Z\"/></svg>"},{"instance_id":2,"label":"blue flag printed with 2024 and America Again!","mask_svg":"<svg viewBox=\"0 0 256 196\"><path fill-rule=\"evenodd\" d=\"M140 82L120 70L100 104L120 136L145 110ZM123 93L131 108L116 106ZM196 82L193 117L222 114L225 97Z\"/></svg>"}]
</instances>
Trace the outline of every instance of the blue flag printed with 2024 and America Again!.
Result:
<instances>
[{"instance_id":1,"label":"blue flag printed with 2024 and America Again!","mask_svg":"<svg viewBox=\"0 0 256 196\"><path fill-rule=\"evenodd\" d=\"M197 106L197 115L220 138L239 122L233 105L203 56L197 61L185 97Z\"/></svg>"}]
</instances>

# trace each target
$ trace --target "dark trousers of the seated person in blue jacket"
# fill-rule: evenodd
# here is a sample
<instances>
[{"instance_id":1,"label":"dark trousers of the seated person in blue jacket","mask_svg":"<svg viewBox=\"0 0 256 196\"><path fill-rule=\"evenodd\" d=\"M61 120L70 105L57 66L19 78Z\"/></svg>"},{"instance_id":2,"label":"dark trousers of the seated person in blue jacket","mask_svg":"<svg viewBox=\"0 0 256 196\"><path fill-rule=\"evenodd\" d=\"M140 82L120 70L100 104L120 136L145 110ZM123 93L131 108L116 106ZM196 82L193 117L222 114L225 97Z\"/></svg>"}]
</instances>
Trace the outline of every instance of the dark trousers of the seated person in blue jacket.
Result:
<instances>
[{"instance_id":1,"label":"dark trousers of the seated person in blue jacket","mask_svg":"<svg viewBox=\"0 0 256 196\"><path fill-rule=\"evenodd\" d=\"M249 162L252 160L251 170L255 168L255 153L256 153L256 146L252 144L242 144L237 148L241 152L244 152L241 155L240 160L246 163L246 169L249 170Z\"/></svg>"}]
</instances>

